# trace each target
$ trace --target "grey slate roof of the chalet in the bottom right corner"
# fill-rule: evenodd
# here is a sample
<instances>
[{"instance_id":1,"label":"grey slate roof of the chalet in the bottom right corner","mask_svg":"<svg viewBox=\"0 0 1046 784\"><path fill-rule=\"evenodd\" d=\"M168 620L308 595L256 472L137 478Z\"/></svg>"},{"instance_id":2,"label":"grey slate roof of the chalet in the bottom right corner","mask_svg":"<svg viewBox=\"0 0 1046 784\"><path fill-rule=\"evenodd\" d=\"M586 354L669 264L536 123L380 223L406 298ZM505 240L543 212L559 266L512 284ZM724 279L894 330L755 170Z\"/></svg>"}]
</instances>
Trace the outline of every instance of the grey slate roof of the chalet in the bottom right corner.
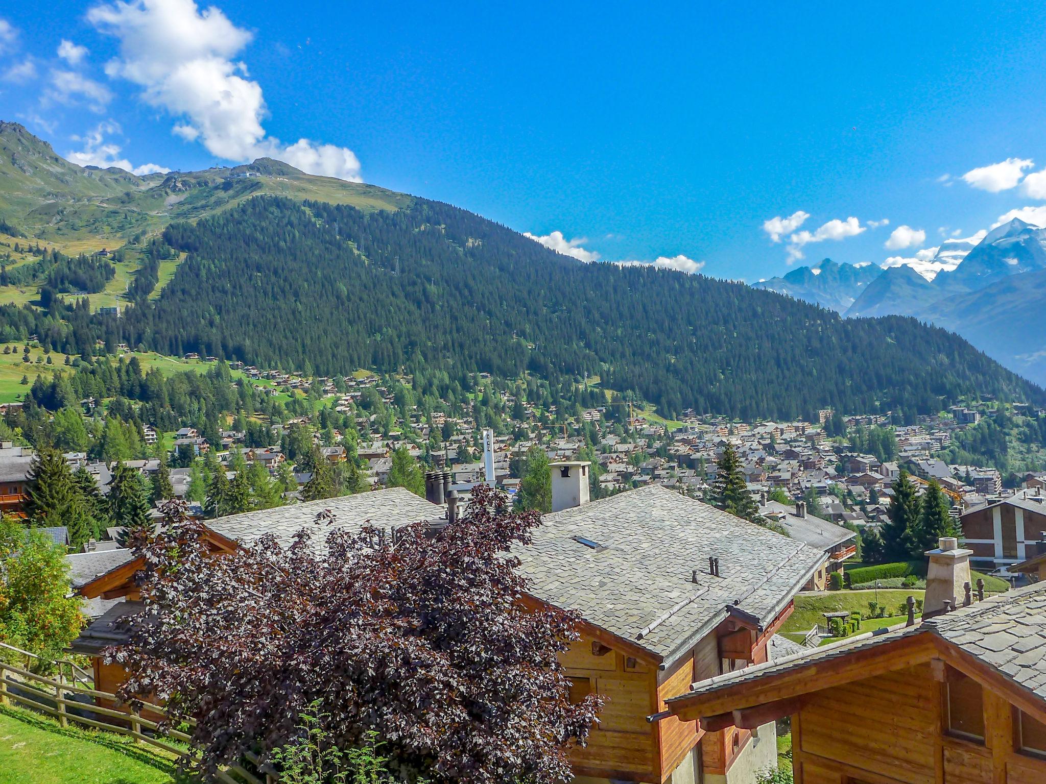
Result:
<instances>
[{"instance_id":1,"label":"grey slate roof of the chalet in the bottom right corner","mask_svg":"<svg viewBox=\"0 0 1046 784\"><path fill-rule=\"evenodd\" d=\"M717 675L693 684L689 694L707 694L760 677L783 674L856 650L886 645L904 637L931 633L994 667L1014 683L1046 699L1046 583L991 596L969 607L936 616L914 626L894 626L844 640L798 655ZM669 702L673 700L668 700Z\"/></svg>"}]
</instances>

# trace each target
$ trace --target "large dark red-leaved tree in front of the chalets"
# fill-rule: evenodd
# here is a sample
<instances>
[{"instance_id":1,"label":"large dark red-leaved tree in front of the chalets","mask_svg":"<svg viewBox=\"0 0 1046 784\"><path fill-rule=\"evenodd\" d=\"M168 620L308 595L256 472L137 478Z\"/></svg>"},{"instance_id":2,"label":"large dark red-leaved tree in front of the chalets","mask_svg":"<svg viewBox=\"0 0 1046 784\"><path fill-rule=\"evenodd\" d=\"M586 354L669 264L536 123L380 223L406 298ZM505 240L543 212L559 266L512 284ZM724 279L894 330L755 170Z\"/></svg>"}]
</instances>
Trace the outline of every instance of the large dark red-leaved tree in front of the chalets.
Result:
<instances>
[{"instance_id":1,"label":"large dark red-leaved tree in front of the chalets","mask_svg":"<svg viewBox=\"0 0 1046 784\"><path fill-rule=\"evenodd\" d=\"M202 766L263 759L294 737L322 700L326 729L348 746L368 731L430 778L535 784L571 778L597 698L567 698L556 653L574 619L531 612L510 547L536 513L514 513L479 487L469 514L433 535L315 528L280 547L266 537L213 556L202 524L169 504L167 525L141 534L143 617L132 643L108 651L129 670L121 694L154 694L197 719ZM394 541L393 541L394 538Z\"/></svg>"}]
</instances>

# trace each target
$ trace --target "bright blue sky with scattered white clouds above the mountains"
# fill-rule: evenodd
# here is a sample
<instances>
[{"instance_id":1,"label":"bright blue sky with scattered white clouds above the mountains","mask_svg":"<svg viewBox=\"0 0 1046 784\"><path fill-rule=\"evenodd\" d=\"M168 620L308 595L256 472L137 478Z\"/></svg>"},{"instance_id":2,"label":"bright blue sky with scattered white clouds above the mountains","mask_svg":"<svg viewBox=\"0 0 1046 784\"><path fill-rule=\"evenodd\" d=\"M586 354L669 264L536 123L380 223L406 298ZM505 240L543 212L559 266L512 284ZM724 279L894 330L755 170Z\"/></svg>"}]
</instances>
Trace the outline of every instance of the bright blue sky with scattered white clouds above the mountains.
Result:
<instances>
[{"instance_id":1,"label":"bright blue sky with scattered white clouds above the mountains","mask_svg":"<svg viewBox=\"0 0 1046 784\"><path fill-rule=\"evenodd\" d=\"M750 282L1046 222L1046 6L566 5L6 4L0 116L82 163L269 154Z\"/></svg>"}]
</instances>

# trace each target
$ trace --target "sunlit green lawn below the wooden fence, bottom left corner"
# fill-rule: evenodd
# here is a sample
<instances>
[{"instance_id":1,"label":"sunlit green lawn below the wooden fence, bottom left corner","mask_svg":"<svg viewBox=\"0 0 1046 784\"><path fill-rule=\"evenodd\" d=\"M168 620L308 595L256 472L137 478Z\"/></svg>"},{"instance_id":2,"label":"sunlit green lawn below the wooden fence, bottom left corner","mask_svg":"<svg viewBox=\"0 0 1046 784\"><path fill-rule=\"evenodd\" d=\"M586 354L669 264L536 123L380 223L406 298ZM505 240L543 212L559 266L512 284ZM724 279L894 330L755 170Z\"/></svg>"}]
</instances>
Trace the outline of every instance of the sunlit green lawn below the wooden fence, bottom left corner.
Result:
<instances>
[{"instance_id":1,"label":"sunlit green lawn below the wooden fence, bottom left corner","mask_svg":"<svg viewBox=\"0 0 1046 784\"><path fill-rule=\"evenodd\" d=\"M0 784L172 784L184 782L173 755L114 733L63 730L18 708L0 708Z\"/></svg>"}]
</instances>

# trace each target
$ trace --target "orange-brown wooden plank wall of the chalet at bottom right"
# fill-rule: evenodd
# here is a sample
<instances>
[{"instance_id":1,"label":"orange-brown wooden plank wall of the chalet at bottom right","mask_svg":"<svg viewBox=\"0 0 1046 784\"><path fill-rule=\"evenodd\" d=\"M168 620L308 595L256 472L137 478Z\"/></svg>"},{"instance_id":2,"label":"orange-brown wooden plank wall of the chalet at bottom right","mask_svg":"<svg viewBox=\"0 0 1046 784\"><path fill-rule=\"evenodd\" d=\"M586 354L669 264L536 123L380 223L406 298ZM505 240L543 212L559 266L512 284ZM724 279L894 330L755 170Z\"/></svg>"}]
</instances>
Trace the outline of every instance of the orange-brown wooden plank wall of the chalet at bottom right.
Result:
<instances>
[{"instance_id":1,"label":"orange-brown wooden plank wall of the chalet at bottom right","mask_svg":"<svg viewBox=\"0 0 1046 784\"><path fill-rule=\"evenodd\" d=\"M945 733L929 663L809 694L792 717L796 784L1046 782L1046 760L1014 751L1010 705L983 695L981 744Z\"/></svg>"}]
</instances>

